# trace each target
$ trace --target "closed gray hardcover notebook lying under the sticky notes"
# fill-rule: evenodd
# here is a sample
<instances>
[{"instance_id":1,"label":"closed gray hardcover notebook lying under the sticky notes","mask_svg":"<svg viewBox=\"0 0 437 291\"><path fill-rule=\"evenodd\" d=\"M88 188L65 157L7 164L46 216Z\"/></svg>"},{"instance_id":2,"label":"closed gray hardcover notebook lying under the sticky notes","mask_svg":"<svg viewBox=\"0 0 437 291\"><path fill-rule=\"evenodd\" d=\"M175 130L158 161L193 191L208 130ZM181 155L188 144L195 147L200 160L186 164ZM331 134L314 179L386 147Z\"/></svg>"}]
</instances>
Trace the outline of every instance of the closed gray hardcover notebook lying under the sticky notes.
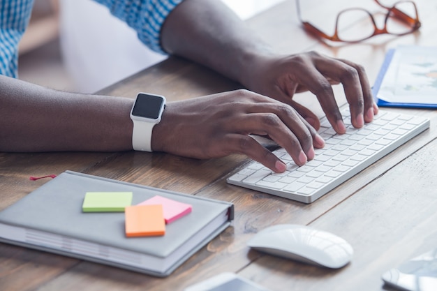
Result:
<instances>
[{"instance_id":1,"label":"closed gray hardcover notebook lying under the sticky notes","mask_svg":"<svg viewBox=\"0 0 437 291\"><path fill-rule=\"evenodd\" d=\"M126 237L123 212L84 213L87 192L132 192L132 204L155 195L191 204L163 237ZM233 204L66 171L0 212L0 241L168 276L222 232Z\"/></svg>"}]
</instances>

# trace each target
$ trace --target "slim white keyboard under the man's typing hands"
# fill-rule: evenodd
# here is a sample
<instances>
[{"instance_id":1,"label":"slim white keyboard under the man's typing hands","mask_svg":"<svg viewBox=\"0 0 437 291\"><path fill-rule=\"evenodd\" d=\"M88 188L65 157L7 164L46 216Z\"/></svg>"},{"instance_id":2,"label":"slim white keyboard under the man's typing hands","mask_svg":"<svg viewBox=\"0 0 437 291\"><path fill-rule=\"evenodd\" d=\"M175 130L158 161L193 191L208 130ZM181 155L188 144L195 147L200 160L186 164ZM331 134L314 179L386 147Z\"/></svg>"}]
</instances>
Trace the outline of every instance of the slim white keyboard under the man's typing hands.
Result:
<instances>
[{"instance_id":1,"label":"slim white keyboard under the man's typing hands","mask_svg":"<svg viewBox=\"0 0 437 291\"><path fill-rule=\"evenodd\" d=\"M336 134L321 119L318 133L325 147L316 149L306 165L298 167L285 149L276 149L274 154L287 163L286 172L278 174L252 161L228 177L228 183L311 203L429 128L427 118L380 110L373 122L357 129L350 124L349 111L342 114L346 134Z\"/></svg>"}]
</instances>

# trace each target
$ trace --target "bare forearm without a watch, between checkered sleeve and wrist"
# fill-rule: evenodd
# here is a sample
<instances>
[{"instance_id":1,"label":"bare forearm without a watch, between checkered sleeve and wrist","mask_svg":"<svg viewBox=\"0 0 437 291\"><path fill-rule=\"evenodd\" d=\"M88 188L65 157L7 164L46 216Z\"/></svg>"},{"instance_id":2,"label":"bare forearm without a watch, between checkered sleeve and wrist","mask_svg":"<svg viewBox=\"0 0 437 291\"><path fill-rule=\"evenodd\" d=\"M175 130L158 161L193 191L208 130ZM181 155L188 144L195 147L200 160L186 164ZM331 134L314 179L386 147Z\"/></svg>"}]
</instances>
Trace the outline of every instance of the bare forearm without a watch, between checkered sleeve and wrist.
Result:
<instances>
[{"instance_id":1,"label":"bare forearm without a watch, between checkered sleeve and wrist","mask_svg":"<svg viewBox=\"0 0 437 291\"><path fill-rule=\"evenodd\" d=\"M270 48L224 3L185 0L170 13L161 31L163 48L198 62L244 85L251 68Z\"/></svg>"}]
</instances>

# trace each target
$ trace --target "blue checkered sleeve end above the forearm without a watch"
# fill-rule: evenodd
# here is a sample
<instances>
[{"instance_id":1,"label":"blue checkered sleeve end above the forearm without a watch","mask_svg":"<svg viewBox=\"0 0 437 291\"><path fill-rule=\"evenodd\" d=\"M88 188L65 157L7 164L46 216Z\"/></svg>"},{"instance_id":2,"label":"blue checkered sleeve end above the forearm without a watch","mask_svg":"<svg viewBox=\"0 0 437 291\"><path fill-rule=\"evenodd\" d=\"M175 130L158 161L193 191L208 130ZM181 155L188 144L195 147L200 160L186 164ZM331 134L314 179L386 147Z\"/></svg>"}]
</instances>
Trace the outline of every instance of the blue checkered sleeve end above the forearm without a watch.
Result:
<instances>
[{"instance_id":1,"label":"blue checkered sleeve end above the forearm without a watch","mask_svg":"<svg viewBox=\"0 0 437 291\"><path fill-rule=\"evenodd\" d=\"M161 27L169 13L183 0L95 0L107 6L137 31L138 38L151 50L165 54L161 47Z\"/></svg>"}]
</instances>

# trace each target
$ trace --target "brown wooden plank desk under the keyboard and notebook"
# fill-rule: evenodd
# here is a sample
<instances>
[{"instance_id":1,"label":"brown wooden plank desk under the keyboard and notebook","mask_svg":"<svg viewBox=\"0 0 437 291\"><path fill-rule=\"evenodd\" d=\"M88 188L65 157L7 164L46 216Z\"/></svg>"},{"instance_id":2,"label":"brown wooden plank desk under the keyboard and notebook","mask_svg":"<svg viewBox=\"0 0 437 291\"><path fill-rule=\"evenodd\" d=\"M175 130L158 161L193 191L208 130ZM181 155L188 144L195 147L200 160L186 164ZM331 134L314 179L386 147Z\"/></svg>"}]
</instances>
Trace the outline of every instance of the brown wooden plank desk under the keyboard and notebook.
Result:
<instances>
[{"instance_id":1,"label":"brown wooden plank desk under the keyboard and notebook","mask_svg":"<svg viewBox=\"0 0 437 291\"><path fill-rule=\"evenodd\" d=\"M363 64L373 84L387 47L437 45L437 7L433 0L416 2L423 23L420 31L341 47L323 45L302 31L294 1L248 22L281 52L318 50ZM133 98L138 91L149 91L179 100L237 87L206 68L170 58L101 93ZM340 87L336 94L343 103ZM307 94L299 98L320 112L315 98ZM232 227L168 278L0 244L0 290L182 290L222 271L236 272L271 290L386 290L380 278L384 271L437 243L437 114L434 110L389 110L429 117L431 128L313 204L226 184L228 173L248 161L244 156L197 161L133 151L0 154L0 209L47 181L29 181L30 176L64 170L235 203ZM335 271L249 251L246 241L255 232L279 223L311 225L338 234L352 244L353 262Z\"/></svg>"}]
</instances>

